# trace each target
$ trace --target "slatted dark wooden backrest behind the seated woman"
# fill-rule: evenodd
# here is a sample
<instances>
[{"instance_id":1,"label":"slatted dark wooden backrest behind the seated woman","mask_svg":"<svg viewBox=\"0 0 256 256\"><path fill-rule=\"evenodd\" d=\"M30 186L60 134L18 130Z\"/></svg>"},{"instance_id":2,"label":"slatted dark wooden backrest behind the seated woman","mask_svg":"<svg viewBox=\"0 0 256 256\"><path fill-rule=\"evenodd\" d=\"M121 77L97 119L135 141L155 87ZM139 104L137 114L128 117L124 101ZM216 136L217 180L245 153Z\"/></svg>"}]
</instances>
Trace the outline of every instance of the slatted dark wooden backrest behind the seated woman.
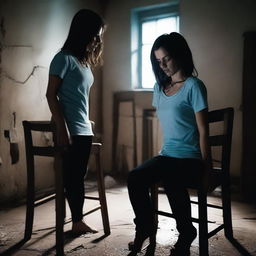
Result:
<instances>
[{"instance_id":1,"label":"slatted dark wooden backrest behind the seated woman","mask_svg":"<svg viewBox=\"0 0 256 256\"><path fill-rule=\"evenodd\" d=\"M223 122L223 132L218 135L210 135L209 143L211 147L221 147L221 159L219 162L222 174L224 175L229 175L233 119L233 108L218 109L208 113L209 125L211 123Z\"/></svg>"}]
</instances>

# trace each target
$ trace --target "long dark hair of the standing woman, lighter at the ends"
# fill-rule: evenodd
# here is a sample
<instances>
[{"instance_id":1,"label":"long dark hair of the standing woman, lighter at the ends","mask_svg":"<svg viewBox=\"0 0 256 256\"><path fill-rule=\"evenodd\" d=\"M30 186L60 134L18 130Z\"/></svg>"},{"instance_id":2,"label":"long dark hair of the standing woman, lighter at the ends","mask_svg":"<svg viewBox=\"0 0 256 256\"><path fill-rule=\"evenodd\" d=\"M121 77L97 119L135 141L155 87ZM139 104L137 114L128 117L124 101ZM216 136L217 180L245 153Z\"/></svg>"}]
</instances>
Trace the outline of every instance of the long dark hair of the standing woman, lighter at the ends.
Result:
<instances>
[{"instance_id":1,"label":"long dark hair of the standing woman, lighter at the ends","mask_svg":"<svg viewBox=\"0 0 256 256\"><path fill-rule=\"evenodd\" d=\"M78 11L71 22L68 37L61 50L66 50L77 57L81 63L96 66L100 63L103 43L94 51L86 51L86 48L104 27L103 19L94 11L89 9Z\"/></svg>"}]
</instances>

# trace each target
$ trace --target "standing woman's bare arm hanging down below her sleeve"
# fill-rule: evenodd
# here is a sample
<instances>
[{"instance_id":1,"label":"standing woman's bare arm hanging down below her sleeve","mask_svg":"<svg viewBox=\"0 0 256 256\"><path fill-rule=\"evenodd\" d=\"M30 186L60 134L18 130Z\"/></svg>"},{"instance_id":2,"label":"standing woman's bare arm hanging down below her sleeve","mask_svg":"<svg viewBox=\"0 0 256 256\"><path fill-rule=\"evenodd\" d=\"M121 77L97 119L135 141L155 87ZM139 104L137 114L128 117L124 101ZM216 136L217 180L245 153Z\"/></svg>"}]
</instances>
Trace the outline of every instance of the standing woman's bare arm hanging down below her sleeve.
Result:
<instances>
[{"instance_id":1,"label":"standing woman's bare arm hanging down below her sleeve","mask_svg":"<svg viewBox=\"0 0 256 256\"><path fill-rule=\"evenodd\" d=\"M58 76L49 75L48 87L46 92L47 102L52 113L53 121L57 129L57 144L60 146L69 144L68 131L65 119L57 98L58 90L61 86L62 79Z\"/></svg>"}]
</instances>

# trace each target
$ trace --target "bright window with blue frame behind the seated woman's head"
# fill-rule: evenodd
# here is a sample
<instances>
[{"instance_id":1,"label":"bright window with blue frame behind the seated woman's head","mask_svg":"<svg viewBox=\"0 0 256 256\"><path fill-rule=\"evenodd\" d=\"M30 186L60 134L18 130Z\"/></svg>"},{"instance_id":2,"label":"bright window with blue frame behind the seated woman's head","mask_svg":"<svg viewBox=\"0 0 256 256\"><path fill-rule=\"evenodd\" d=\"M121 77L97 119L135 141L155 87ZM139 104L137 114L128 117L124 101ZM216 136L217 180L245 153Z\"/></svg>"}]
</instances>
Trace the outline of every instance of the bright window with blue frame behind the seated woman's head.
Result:
<instances>
[{"instance_id":1,"label":"bright window with blue frame behind the seated woman's head","mask_svg":"<svg viewBox=\"0 0 256 256\"><path fill-rule=\"evenodd\" d=\"M151 47L159 35L173 31L179 31L177 4L132 10L131 70L133 88L153 88L155 77L150 62Z\"/></svg>"}]
</instances>

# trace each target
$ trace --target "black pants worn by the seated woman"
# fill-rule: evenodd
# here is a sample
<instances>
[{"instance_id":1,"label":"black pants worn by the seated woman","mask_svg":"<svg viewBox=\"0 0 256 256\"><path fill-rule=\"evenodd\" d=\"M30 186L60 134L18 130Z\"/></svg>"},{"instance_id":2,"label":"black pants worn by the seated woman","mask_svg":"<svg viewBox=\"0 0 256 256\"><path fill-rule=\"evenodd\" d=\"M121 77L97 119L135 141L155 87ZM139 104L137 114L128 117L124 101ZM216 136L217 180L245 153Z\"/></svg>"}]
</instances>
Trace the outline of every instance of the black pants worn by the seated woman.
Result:
<instances>
[{"instance_id":1,"label":"black pants worn by the seated woman","mask_svg":"<svg viewBox=\"0 0 256 256\"><path fill-rule=\"evenodd\" d=\"M162 182L177 230L185 233L192 228L191 205L186 185L198 184L203 170L202 161L192 158L156 156L129 173L128 192L135 213L136 231L154 231L154 211L149 188Z\"/></svg>"}]
</instances>

